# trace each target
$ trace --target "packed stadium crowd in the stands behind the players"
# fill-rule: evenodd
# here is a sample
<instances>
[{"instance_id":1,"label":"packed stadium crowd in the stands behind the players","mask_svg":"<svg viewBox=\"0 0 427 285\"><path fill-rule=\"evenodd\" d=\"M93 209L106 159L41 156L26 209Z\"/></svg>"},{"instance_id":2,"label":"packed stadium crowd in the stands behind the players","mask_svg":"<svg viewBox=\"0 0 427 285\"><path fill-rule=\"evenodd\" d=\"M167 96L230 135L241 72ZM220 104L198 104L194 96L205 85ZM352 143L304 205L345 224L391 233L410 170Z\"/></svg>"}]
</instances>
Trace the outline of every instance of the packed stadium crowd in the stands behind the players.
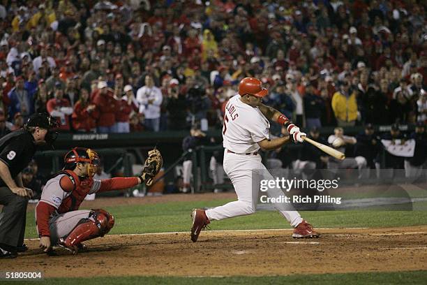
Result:
<instances>
[{"instance_id":1,"label":"packed stadium crowd in the stands behind the players","mask_svg":"<svg viewBox=\"0 0 427 285\"><path fill-rule=\"evenodd\" d=\"M220 128L244 77L299 126L427 120L423 1L0 1L0 132Z\"/></svg>"}]
</instances>

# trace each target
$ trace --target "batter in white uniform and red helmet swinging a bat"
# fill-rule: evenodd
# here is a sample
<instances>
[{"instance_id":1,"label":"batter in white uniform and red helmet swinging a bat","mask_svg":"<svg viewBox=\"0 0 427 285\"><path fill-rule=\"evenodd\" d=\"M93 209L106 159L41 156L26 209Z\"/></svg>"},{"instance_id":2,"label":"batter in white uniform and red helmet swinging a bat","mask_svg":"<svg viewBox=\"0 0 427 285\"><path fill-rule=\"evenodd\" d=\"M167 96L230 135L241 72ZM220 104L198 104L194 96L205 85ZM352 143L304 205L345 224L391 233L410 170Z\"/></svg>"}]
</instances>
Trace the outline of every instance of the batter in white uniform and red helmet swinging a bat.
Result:
<instances>
[{"instance_id":1,"label":"batter in white uniform and red helmet swinging a bat","mask_svg":"<svg viewBox=\"0 0 427 285\"><path fill-rule=\"evenodd\" d=\"M197 241L200 231L210 221L253 214L255 202L252 197L253 170L265 170L260 148L276 149L290 140L304 142L306 133L290 122L285 115L274 108L262 104L262 97L268 90L262 88L262 82L256 78L244 78L239 83L239 94L230 98L224 115L223 146L224 170L232 181L237 193L237 201L227 203L210 210L193 210L191 240ZM290 136L269 138L269 119L287 127ZM273 179L273 177L271 177ZM317 238L319 234L301 218L297 211L280 211L280 214L294 227L294 238Z\"/></svg>"}]
</instances>

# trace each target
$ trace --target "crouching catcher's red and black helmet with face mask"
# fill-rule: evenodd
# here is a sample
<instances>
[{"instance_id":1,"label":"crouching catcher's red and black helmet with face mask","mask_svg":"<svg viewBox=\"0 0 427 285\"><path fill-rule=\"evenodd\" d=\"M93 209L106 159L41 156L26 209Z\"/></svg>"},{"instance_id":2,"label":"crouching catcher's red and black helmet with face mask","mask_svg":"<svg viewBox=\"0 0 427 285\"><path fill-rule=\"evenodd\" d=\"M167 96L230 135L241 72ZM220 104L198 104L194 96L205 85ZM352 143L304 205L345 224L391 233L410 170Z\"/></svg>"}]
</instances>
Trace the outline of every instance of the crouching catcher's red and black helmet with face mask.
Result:
<instances>
[{"instance_id":1,"label":"crouching catcher's red and black helmet with face mask","mask_svg":"<svg viewBox=\"0 0 427 285\"><path fill-rule=\"evenodd\" d=\"M87 175L93 177L100 164L99 156L92 149L85 147L75 147L71 149L64 157L64 169L74 169L77 163L87 162Z\"/></svg>"}]
</instances>

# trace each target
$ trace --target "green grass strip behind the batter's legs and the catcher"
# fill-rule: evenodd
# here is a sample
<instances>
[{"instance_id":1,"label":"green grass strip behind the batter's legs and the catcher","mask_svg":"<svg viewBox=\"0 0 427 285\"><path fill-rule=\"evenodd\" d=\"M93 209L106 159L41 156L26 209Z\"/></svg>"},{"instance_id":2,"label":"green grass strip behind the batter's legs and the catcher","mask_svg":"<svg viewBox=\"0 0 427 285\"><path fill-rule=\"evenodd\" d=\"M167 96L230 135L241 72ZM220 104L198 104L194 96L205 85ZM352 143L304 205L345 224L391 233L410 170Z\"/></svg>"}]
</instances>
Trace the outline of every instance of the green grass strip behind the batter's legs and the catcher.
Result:
<instances>
[{"instance_id":1,"label":"green grass strip behind the batter's legs and the catcher","mask_svg":"<svg viewBox=\"0 0 427 285\"><path fill-rule=\"evenodd\" d=\"M105 207L114 214L116 224L110 234L160 233L190 230L190 212L194 207L215 207L230 200L209 202L172 202L151 205L119 205ZM427 211L318 211L301 212L316 228L391 227L426 224ZM211 223L212 230L243 230L259 228L289 228L287 221L275 211L257 212ZM27 214L26 238L36 238L33 211Z\"/></svg>"}]
</instances>

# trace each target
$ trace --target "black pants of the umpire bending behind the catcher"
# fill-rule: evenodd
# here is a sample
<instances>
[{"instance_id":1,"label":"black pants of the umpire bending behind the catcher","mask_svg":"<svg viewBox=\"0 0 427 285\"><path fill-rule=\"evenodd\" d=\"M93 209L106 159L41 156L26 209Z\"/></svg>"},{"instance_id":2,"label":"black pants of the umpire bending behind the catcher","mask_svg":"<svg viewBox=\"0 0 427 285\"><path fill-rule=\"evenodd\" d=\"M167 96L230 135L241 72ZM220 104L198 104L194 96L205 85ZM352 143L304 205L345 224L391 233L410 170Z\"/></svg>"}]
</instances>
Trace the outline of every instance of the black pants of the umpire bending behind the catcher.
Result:
<instances>
[{"instance_id":1,"label":"black pants of the umpire bending behind the catcher","mask_svg":"<svg viewBox=\"0 0 427 285\"><path fill-rule=\"evenodd\" d=\"M0 187L0 244L22 247L28 198L17 196L8 187Z\"/></svg>"}]
</instances>

